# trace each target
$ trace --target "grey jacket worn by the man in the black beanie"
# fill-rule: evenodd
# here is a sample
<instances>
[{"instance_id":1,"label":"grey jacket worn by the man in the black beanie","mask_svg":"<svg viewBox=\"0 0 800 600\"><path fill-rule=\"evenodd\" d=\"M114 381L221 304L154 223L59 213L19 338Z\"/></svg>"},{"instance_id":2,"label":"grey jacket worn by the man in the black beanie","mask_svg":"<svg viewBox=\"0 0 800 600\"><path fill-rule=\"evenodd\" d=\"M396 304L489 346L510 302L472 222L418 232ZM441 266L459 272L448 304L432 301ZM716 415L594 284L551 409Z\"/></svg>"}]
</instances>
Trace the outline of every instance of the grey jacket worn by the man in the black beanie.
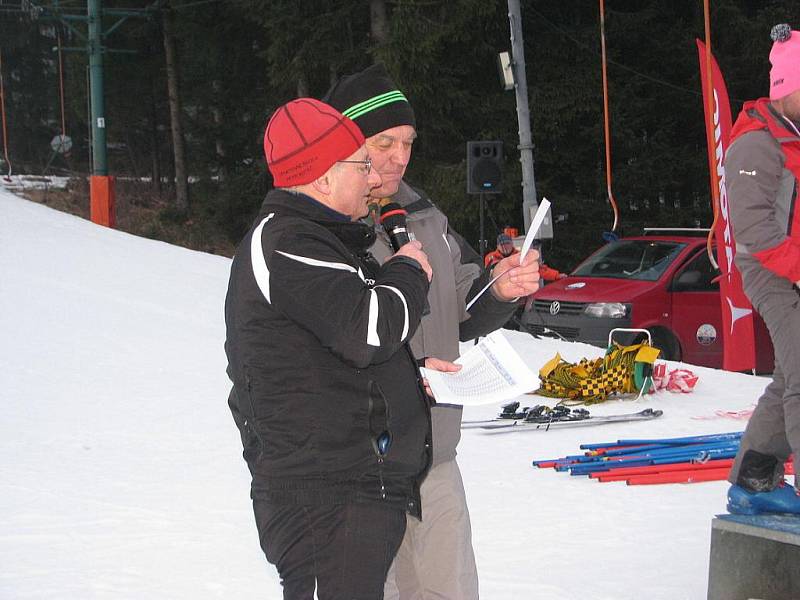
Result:
<instances>
[{"instance_id":1,"label":"grey jacket worn by the man in the black beanie","mask_svg":"<svg viewBox=\"0 0 800 600\"><path fill-rule=\"evenodd\" d=\"M422 317L411 339L411 350L417 359L453 361L459 356L459 340L475 339L501 327L514 312L515 303L501 302L487 291L467 312L467 301L488 283L489 272L464 260L447 217L426 196L401 182L392 200L408 211L408 230L422 243L433 269L428 292L431 311ZM394 250L383 228L380 225L375 228L377 240L370 251L382 263ZM455 457L461 438L461 412L459 405L433 406L434 465Z\"/></svg>"}]
</instances>

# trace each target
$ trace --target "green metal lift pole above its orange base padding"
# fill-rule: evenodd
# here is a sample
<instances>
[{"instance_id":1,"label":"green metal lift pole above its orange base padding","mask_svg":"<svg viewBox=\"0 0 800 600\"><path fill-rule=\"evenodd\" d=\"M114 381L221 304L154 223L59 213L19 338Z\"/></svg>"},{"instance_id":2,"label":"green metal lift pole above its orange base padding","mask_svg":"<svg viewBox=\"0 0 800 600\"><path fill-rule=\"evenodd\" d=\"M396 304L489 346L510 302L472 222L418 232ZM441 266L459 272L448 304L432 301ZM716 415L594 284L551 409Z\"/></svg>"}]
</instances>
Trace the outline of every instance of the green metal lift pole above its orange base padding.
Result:
<instances>
[{"instance_id":1,"label":"green metal lift pole above its orange base padding","mask_svg":"<svg viewBox=\"0 0 800 600\"><path fill-rule=\"evenodd\" d=\"M103 24L101 0L87 1L89 21L89 87L92 102L92 173L108 175L106 119L103 104Z\"/></svg>"}]
</instances>

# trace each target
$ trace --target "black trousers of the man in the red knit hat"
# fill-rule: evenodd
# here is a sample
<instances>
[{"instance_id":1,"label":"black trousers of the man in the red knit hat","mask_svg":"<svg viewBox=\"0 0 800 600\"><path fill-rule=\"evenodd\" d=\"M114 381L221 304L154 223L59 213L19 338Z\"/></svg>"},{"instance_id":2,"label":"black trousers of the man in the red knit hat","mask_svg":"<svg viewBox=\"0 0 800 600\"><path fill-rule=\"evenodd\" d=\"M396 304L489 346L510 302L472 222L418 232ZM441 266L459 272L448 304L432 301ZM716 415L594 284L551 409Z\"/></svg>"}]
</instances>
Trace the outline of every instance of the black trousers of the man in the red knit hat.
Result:
<instances>
[{"instance_id":1,"label":"black trousers of the man in the red knit hat","mask_svg":"<svg viewBox=\"0 0 800 600\"><path fill-rule=\"evenodd\" d=\"M406 529L380 504L302 506L254 500L261 548L278 568L284 600L382 600Z\"/></svg>"}]
</instances>

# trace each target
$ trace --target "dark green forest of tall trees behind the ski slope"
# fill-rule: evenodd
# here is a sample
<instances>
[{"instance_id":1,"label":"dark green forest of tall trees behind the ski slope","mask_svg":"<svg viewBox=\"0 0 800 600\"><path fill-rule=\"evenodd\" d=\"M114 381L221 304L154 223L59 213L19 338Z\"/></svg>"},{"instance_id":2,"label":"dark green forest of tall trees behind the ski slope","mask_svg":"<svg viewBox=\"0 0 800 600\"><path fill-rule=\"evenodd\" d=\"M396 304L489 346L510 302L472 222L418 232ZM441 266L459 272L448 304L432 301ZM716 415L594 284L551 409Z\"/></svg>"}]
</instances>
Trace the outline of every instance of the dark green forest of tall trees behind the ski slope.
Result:
<instances>
[{"instance_id":1,"label":"dark green forest of tall trees behind the ski slope","mask_svg":"<svg viewBox=\"0 0 800 600\"><path fill-rule=\"evenodd\" d=\"M53 156L60 133L57 39L83 42L57 20L20 8L54 2L0 0L0 50L15 171L90 170L86 54L64 53L65 117L74 148ZM61 0L85 14L83 0ZM235 244L271 186L262 134L275 108L322 96L339 75L384 62L417 113L407 179L425 189L477 246L478 201L466 194L468 140L505 143L504 192L491 197L487 238L521 228L522 190L513 92L501 89L497 53L510 50L505 0L171 0L129 19L106 40L133 52L105 55L110 173L153 178L125 188L154 219L202 223ZM104 8L153 6L106 0ZM798 0L712 0L712 43L734 116L766 94L772 25L800 16ZM175 199L164 14L177 48L180 118L192 177L188 206ZM548 262L570 269L599 246L606 200L599 8L594 1L522 1L536 188L553 203ZM106 26L115 20L108 18ZM80 28L81 25L74 24ZM606 43L613 189L622 233L712 220L695 38L700 0L607 0ZM167 182L170 182L168 185ZM127 190L127 191L126 191ZM88 198L86 199L88 204ZM159 237L157 227L151 229ZM202 238L202 236L201 236ZM202 239L194 245L203 248ZM232 247L232 246L231 246Z\"/></svg>"}]
</instances>

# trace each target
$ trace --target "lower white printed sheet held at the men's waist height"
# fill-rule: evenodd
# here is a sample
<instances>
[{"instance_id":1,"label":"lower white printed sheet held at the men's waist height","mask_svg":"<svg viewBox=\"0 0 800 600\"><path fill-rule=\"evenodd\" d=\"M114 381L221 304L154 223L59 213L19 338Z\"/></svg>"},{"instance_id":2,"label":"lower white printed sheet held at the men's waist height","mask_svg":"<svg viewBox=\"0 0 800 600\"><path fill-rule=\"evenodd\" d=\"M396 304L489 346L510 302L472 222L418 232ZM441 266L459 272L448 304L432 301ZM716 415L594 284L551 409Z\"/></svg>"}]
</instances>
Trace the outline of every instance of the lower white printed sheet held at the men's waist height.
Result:
<instances>
[{"instance_id":1,"label":"lower white printed sheet held at the men's waist height","mask_svg":"<svg viewBox=\"0 0 800 600\"><path fill-rule=\"evenodd\" d=\"M421 369L437 402L475 406L497 404L539 387L539 378L495 331L455 361L456 373Z\"/></svg>"}]
</instances>

